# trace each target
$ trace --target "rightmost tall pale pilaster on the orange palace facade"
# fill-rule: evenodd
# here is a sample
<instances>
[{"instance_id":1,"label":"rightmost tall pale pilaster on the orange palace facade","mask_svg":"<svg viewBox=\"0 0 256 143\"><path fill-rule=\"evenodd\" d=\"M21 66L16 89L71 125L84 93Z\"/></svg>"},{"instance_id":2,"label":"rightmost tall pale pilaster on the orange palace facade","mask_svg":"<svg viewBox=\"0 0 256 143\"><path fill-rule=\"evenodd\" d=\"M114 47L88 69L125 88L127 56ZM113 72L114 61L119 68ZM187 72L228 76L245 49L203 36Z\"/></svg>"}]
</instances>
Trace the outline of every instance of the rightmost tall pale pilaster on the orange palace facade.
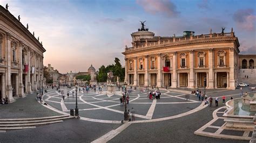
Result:
<instances>
[{"instance_id":1,"label":"rightmost tall pale pilaster on the orange palace facade","mask_svg":"<svg viewBox=\"0 0 256 143\"><path fill-rule=\"evenodd\" d=\"M230 89L235 89L235 78L234 78L234 48L230 48L230 82L229 87Z\"/></svg>"}]
</instances>

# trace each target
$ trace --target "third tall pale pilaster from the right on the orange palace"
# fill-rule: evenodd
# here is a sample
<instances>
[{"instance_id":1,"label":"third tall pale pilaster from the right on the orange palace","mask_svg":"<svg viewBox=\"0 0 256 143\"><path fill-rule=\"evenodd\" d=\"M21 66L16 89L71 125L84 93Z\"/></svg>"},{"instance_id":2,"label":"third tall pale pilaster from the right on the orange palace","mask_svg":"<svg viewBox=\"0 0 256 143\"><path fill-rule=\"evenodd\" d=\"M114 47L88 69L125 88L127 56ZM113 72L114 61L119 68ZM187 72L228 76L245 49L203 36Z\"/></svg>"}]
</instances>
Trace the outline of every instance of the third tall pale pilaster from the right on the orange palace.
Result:
<instances>
[{"instance_id":1,"label":"third tall pale pilaster from the right on the orange palace","mask_svg":"<svg viewBox=\"0 0 256 143\"><path fill-rule=\"evenodd\" d=\"M190 51L190 73L188 73L188 88L194 88L194 51Z\"/></svg>"}]
</instances>

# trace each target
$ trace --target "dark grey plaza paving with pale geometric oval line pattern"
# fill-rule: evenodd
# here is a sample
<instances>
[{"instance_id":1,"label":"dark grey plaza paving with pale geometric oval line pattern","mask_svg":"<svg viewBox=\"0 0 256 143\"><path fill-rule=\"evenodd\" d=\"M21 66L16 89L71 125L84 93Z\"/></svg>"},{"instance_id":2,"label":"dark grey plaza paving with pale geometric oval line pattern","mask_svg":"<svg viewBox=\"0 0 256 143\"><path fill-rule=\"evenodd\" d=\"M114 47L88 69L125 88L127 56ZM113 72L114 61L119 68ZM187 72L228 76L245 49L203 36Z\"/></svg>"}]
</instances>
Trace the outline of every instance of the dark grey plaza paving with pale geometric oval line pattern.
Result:
<instances>
[{"instance_id":1,"label":"dark grey plaza paving with pale geometric oval line pattern","mask_svg":"<svg viewBox=\"0 0 256 143\"><path fill-rule=\"evenodd\" d=\"M76 96L72 96L75 88L60 88L64 91L65 99L56 89L48 89L43 96L44 102L40 104L35 99L35 93L24 98L19 98L14 103L3 105L1 118L32 118L68 115L70 109L75 109ZM105 91L106 88L103 88ZM118 90L118 89L116 89ZM180 91L180 92L178 92ZM249 91L244 88L243 91ZM67 97L66 93L70 92ZM225 106L219 102L219 108L215 106L203 106L195 95L185 94L178 89L160 89L160 99L149 99L145 89L129 89L130 103L127 109L134 108L136 121L122 124L124 119L124 105L120 105L119 94L107 96L105 92L89 90L79 92L78 108L80 119L66 119L62 123L37 126L25 130L8 130L0 133L1 142L246 142L239 137L247 135L250 131L217 130L221 127L221 113ZM240 89L208 91L208 96L219 97L225 94L227 100L230 97L239 98ZM76 92L75 92L76 93ZM25 104L19 104L23 102ZM21 109L29 110L23 113ZM39 110L36 110L39 109ZM8 114L4 112L8 111ZM12 113L13 112L13 113ZM18 113L20 112L20 113ZM215 113L215 115L213 114ZM217 119L215 119L217 118ZM216 123L213 123L214 121ZM210 125L211 124L211 125ZM213 125L214 124L214 125ZM237 140L203 137L194 134L195 131L204 131L216 134L236 136ZM15 138L15 137L19 138ZM207 135L206 135L207 136ZM214 136L214 135L213 135ZM247 139L248 139L247 138ZM246 138L244 138L246 139Z\"/></svg>"}]
</instances>

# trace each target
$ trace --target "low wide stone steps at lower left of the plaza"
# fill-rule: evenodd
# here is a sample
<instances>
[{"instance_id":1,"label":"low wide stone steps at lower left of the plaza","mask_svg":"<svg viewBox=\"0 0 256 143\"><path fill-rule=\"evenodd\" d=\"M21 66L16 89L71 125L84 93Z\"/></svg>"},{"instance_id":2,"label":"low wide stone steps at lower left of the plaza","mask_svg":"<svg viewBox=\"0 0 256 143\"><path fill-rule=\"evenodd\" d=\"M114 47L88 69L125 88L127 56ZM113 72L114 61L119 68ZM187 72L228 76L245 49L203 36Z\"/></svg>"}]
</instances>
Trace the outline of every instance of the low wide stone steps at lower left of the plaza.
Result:
<instances>
[{"instance_id":1,"label":"low wide stone steps at lower left of the plaza","mask_svg":"<svg viewBox=\"0 0 256 143\"><path fill-rule=\"evenodd\" d=\"M35 128L39 125L60 123L63 119L74 118L69 115L42 117L42 118L20 118L20 119L0 119L0 130L18 130L25 128Z\"/></svg>"}]
</instances>

